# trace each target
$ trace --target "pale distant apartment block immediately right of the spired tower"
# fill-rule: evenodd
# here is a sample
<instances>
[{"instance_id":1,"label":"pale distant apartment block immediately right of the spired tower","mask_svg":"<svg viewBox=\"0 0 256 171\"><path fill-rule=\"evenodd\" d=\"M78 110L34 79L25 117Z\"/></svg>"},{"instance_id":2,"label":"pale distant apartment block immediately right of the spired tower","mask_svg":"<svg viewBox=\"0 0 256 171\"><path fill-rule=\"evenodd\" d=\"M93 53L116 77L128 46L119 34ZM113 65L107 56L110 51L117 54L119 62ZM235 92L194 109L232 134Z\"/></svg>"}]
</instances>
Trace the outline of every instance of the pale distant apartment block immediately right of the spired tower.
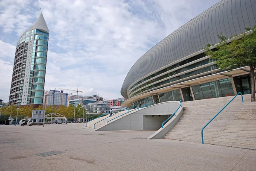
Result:
<instances>
[{"instance_id":1,"label":"pale distant apartment block immediately right of the spired tower","mask_svg":"<svg viewBox=\"0 0 256 171\"><path fill-rule=\"evenodd\" d=\"M64 93L63 90L49 90L45 92L46 96L44 97L44 105L64 105L68 106L68 93Z\"/></svg>"}]
</instances>

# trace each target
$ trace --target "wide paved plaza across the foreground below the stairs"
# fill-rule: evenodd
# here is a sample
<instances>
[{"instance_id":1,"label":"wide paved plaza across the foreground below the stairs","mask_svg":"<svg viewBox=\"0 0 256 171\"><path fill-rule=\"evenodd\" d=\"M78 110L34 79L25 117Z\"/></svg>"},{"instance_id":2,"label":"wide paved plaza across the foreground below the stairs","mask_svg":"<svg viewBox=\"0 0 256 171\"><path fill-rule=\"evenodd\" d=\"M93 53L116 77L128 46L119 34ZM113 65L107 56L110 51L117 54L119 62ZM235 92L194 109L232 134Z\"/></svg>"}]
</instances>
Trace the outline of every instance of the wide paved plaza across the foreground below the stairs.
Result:
<instances>
[{"instance_id":1,"label":"wide paved plaza across the foreground below the stairs","mask_svg":"<svg viewBox=\"0 0 256 171\"><path fill-rule=\"evenodd\" d=\"M0 126L0 171L256 171L256 151L82 124ZM61 151L41 157L37 154Z\"/></svg>"}]
</instances>

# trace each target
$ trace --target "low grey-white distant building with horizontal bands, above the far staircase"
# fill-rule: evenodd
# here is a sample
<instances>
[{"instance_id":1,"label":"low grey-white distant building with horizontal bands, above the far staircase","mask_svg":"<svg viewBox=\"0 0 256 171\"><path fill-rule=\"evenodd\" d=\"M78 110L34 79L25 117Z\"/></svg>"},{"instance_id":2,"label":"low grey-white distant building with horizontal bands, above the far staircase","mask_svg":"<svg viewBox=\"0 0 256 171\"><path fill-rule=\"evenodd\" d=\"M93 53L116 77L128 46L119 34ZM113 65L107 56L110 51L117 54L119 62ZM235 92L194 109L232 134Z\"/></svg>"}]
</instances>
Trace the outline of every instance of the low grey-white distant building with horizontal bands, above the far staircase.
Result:
<instances>
[{"instance_id":1,"label":"low grey-white distant building with horizontal bands, above the far staircase","mask_svg":"<svg viewBox=\"0 0 256 171\"><path fill-rule=\"evenodd\" d=\"M89 103L84 106L87 113L106 113L110 111L109 101Z\"/></svg>"}]
</instances>

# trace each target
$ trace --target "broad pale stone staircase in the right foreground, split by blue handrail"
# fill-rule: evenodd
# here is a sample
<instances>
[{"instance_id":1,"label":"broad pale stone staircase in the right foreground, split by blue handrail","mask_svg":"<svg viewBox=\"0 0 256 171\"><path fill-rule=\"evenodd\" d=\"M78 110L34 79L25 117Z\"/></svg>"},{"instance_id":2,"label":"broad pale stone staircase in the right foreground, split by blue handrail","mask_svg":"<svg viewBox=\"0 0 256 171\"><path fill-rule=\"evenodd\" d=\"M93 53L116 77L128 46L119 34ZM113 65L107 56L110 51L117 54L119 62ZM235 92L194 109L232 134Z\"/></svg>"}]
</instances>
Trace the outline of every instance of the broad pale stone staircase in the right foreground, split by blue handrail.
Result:
<instances>
[{"instance_id":1,"label":"broad pale stone staircase in the right foreground, split by blue handrail","mask_svg":"<svg viewBox=\"0 0 256 171\"><path fill-rule=\"evenodd\" d=\"M165 139L201 143L201 129L233 97L183 102L184 112ZM232 101L205 129L204 143L256 149L256 102Z\"/></svg>"}]
</instances>

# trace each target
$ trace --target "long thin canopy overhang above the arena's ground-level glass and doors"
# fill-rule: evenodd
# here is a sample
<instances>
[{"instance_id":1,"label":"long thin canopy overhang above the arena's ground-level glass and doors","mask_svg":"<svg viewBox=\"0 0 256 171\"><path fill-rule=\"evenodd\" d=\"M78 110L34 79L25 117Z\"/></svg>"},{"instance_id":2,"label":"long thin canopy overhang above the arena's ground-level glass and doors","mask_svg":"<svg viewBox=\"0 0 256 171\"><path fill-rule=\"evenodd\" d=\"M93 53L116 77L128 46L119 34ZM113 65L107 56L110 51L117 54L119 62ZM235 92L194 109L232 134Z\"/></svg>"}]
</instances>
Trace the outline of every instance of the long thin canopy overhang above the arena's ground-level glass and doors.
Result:
<instances>
[{"instance_id":1,"label":"long thin canopy overhang above the arena's ground-level glass and doors","mask_svg":"<svg viewBox=\"0 0 256 171\"><path fill-rule=\"evenodd\" d=\"M195 78L195 79L192 79L189 81L183 81L178 84L173 84L168 87L163 87L163 88L160 88L157 90L152 90L152 91L131 97L130 99L127 99L124 102L122 102L121 106L129 107L129 106L131 106L131 104L134 101L143 99L148 96L153 96L153 95L157 95L159 93L164 93L164 92L168 92L168 91L172 91L172 90L180 89L180 88L184 88L184 87L189 87L189 86L193 86L193 85L197 85L197 84L203 84L203 83L210 82L210 81L221 80L221 79L229 78L231 76L235 77L235 76L239 76L239 75L248 74L248 71L250 72L250 67L241 67L241 68L235 69L233 71L224 71L224 72L220 72L217 74L207 75L207 76L204 76L201 78Z\"/></svg>"}]
</instances>

